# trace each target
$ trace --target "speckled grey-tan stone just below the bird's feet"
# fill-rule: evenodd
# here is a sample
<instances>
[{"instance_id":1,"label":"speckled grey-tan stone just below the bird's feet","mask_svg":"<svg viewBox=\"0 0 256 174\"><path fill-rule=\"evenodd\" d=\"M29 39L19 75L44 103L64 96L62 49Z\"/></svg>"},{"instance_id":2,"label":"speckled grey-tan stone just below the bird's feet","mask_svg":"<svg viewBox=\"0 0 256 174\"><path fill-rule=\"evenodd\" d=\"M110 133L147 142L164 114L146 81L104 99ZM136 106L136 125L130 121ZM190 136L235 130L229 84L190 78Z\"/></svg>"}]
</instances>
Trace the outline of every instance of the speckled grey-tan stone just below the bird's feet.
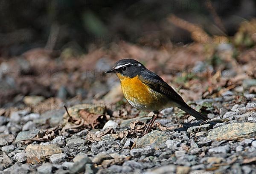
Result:
<instances>
[{"instance_id":1,"label":"speckled grey-tan stone just below the bird's feet","mask_svg":"<svg viewBox=\"0 0 256 174\"><path fill-rule=\"evenodd\" d=\"M151 146L155 149L159 149L168 139L169 137L164 132L154 130L139 138L136 143L136 148Z\"/></svg>"}]
</instances>

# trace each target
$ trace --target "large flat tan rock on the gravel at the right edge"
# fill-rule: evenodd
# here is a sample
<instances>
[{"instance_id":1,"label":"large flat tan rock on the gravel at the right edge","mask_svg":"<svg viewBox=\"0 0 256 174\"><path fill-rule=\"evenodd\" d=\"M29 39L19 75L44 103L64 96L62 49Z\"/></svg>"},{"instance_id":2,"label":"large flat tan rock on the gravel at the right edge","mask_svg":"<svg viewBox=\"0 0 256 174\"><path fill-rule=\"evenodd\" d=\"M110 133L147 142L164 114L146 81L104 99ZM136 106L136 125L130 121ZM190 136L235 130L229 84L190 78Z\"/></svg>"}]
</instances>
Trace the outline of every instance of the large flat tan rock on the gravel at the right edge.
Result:
<instances>
[{"instance_id":1,"label":"large flat tan rock on the gravel at the right edge","mask_svg":"<svg viewBox=\"0 0 256 174\"><path fill-rule=\"evenodd\" d=\"M209 140L236 140L256 136L256 123L231 123L213 129L208 133Z\"/></svg>"}]
</instances>

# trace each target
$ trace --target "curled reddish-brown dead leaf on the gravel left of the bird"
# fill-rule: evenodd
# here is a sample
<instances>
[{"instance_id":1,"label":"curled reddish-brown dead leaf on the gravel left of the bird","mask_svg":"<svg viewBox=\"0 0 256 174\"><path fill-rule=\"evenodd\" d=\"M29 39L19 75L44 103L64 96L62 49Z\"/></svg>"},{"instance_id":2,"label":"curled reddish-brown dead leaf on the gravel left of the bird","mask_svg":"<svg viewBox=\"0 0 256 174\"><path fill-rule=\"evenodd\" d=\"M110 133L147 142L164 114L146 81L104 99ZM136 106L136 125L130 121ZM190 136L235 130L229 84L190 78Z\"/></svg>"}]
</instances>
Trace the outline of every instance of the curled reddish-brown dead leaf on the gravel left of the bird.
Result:
<instances>
[{"instance_id":1,"label":"curled reddish-brown dead leaf on the gravel left of the bird","mask_svg":"<svg viewBox=\"0 0 256 174\"><path fill-rule=\"evenodd\" d=\"M107 117L102 114L90 113L86 110L80 110L79 114L84 119L84 124L89 125L92 128L102 128L106 123Z\"/></svg>"}]
</instances>

